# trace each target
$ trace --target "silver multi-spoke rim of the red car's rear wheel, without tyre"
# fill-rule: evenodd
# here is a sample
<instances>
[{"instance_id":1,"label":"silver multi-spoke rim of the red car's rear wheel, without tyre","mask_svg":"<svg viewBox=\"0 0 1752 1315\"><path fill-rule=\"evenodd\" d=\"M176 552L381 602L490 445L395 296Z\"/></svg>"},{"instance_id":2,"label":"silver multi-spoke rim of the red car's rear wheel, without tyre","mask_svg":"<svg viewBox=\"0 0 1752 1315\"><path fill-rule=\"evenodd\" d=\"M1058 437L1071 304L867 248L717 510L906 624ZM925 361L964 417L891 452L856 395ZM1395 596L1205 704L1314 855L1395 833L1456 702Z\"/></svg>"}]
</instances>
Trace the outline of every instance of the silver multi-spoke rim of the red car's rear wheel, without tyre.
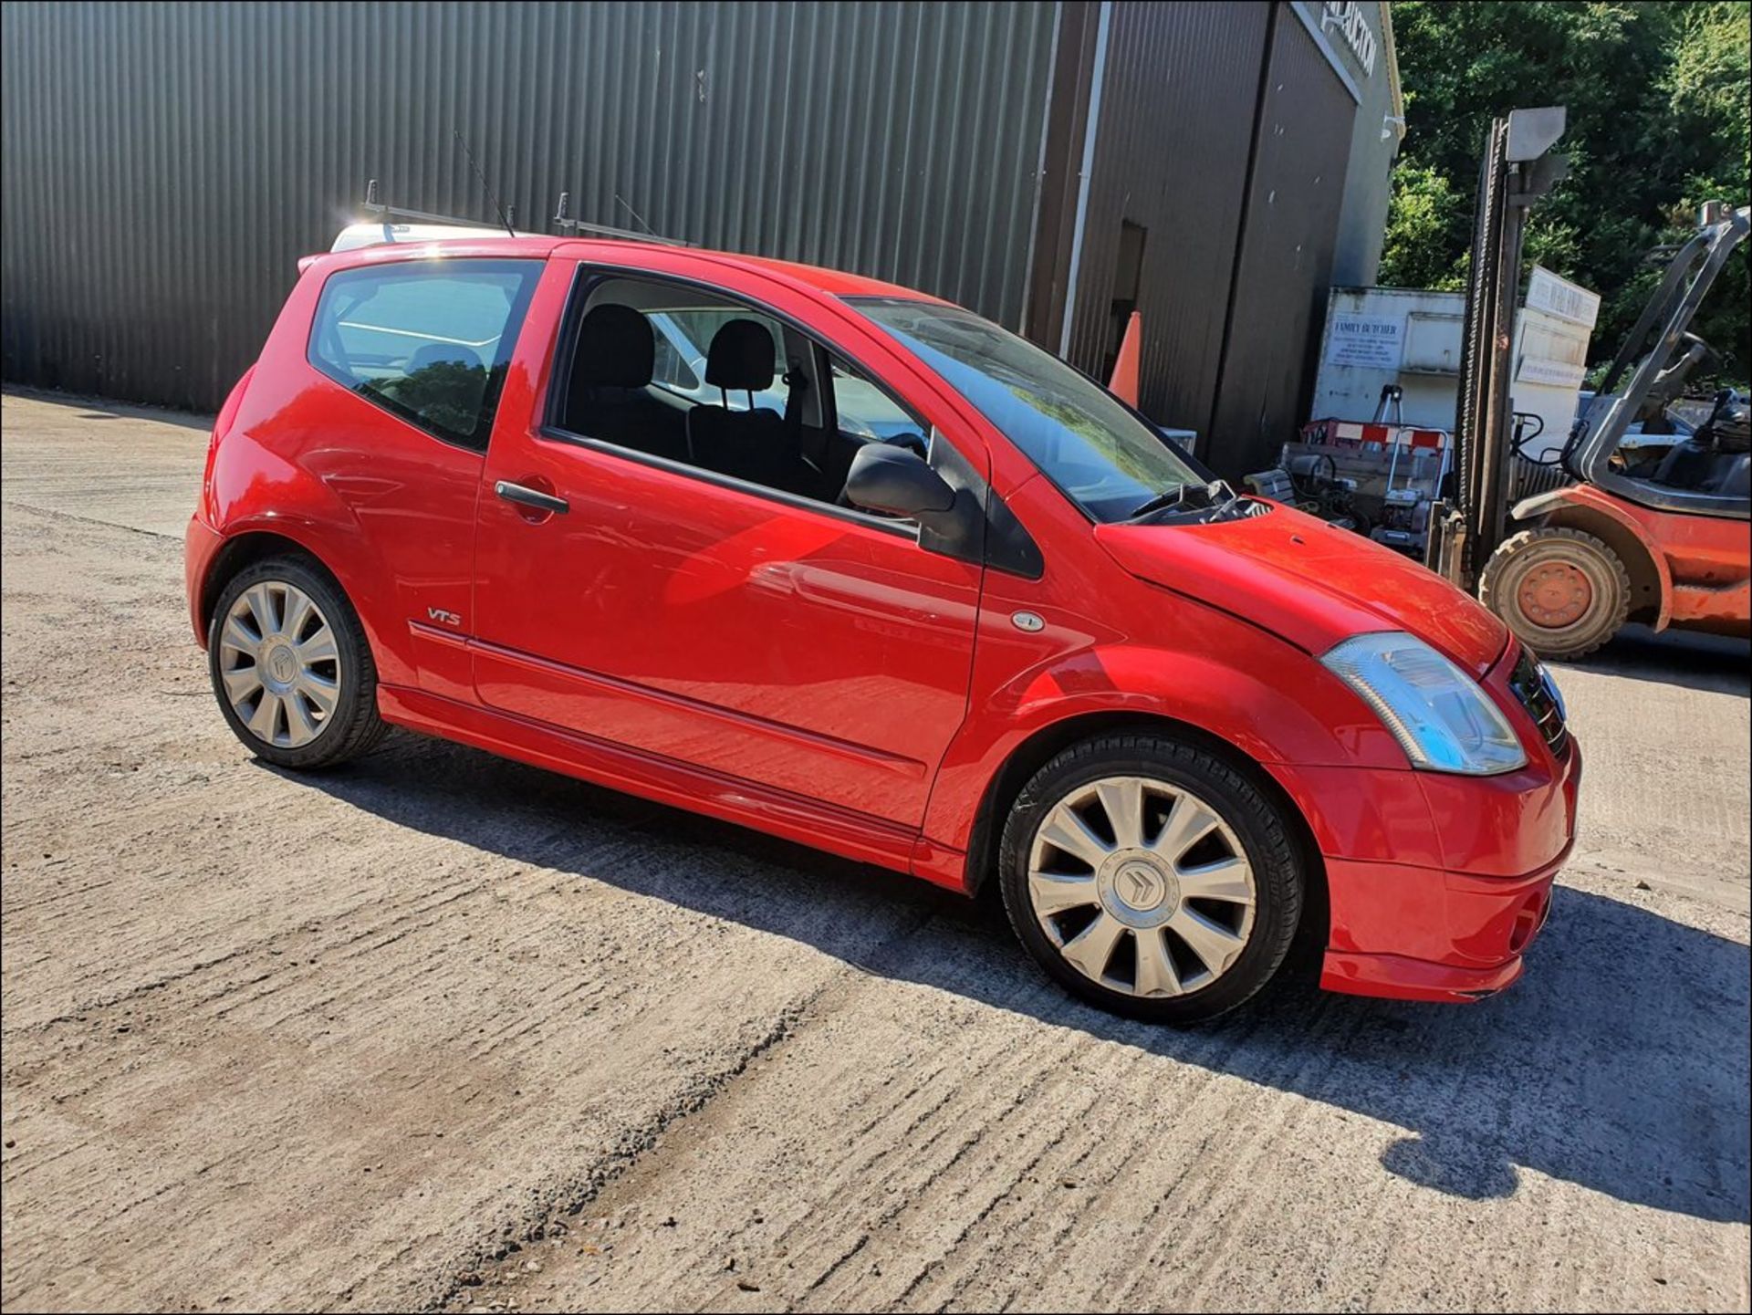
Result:
<instances>
[{"instance_id":1,"label":"silver multi-spoke rim of the red car's rear wheel, without tyre","mask_svg":"<svg viewBox=\"0 0 1752 1315\"><path fill-rule=\"evenodd\" d=\"M296 585L265 580L238 595L219 630L231 711L265 744L308 744L340 702L340 650L322 609Z\"/></svg>"}]
</instances>

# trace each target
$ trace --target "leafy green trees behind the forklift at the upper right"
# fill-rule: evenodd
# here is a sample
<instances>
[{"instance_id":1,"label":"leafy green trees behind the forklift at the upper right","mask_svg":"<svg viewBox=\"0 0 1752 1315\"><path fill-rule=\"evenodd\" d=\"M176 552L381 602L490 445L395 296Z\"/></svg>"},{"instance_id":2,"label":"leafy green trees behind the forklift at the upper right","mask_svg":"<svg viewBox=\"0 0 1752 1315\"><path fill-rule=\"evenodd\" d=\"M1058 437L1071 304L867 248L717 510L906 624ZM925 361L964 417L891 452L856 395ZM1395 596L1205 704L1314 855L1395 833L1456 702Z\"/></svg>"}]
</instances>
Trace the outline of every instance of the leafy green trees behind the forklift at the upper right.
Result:
<instances>
[{"instance_id":1,"label":"leafy green trees behind the forklift at the upper right","mask_svg":"<svg viewBox=\"0 0 1752 1315\"><path fill-rule=\"evenodd\" d=\"M1685 236L1706 200L1745 205L1752 2L1396 0L1405 149L1381 282L1458 287L1489 121L1566 105L1570 177L1533 212L1528 256L1601 294L1596 357L1642 310L1647 252ZM1741 249L1692 326L1743 382L1752 282Z\"/></svg>"}]
</instances>

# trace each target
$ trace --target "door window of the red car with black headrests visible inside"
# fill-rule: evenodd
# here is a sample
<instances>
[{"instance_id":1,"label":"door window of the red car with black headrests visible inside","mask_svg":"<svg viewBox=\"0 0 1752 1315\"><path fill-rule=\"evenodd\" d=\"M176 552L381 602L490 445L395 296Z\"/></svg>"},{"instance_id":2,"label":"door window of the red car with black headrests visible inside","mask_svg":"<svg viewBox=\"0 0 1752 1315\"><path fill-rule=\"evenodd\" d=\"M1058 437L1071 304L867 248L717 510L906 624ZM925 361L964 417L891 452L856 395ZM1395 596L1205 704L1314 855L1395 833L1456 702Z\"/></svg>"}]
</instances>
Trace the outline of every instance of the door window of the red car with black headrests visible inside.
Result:
<instances>
[{"instance_id":1,"label":"door window of the red car with black headrests visible inside","mask_svg":"<svg viewBox=\"0 0 1752 1315\"><path fill-rule=\"evenodd\" d=\"M846 510L860 447L904 436L923 455L920 420L850 362L820 378L829 352L755 306L622 277L583 296L555 371L564 431Z\"/></svg>"}]
</instances>

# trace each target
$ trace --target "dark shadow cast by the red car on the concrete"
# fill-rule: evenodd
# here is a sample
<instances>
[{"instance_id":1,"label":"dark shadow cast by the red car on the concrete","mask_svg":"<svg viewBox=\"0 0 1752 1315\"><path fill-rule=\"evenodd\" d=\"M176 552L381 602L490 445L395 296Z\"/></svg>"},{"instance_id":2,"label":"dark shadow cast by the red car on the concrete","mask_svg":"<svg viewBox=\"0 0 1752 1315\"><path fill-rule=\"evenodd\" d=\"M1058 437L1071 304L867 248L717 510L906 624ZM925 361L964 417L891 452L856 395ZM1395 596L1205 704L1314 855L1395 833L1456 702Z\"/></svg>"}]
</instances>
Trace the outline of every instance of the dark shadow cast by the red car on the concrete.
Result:
<instances>
[{"instance_id":1,"label":"dark shadow cast by the red car on the concrete","mask_svg":"<svg viewBox=\"0 0 1752 1315\"><path fill-rule=\"evenodd\" d=\"M347 769L287 779L401 826L815 946L867 974L1396 1124L1407 1135L1382 1166L1435 1191L1500 1198L1531 1170L1636 1205L1752 1220L1748 951L1631 904L1559 888L1526 979L1477 1005L1289 982L1219 1024L1177 1031L1067 996L992 900L457 744L398 734Z\"/></svg>"}]
</instances>

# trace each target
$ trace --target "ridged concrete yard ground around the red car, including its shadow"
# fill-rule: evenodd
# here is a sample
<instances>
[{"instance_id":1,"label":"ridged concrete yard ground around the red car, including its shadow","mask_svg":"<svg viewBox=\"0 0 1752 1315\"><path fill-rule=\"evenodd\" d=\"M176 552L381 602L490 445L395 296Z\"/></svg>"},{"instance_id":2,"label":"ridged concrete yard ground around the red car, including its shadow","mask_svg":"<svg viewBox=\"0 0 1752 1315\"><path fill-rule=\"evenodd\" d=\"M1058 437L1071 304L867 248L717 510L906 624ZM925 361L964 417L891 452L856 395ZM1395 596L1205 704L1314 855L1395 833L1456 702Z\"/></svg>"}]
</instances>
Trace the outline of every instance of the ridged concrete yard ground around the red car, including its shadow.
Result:
<instances>
[{"instance_id":1,"label":"ridged concrete yard ground around the red car, including its shadow","mask_svg":"<svg viewBox=\"0 0 1752 1315\"><path fill-rule=\"evenodd\" d=\"M4 399L5 1310L1745 1310L1745 644L1559 672L1526 979L1070 1002L1000 916L413 735L252 762L205 432Z\"/></svg>"}]
</instances>

